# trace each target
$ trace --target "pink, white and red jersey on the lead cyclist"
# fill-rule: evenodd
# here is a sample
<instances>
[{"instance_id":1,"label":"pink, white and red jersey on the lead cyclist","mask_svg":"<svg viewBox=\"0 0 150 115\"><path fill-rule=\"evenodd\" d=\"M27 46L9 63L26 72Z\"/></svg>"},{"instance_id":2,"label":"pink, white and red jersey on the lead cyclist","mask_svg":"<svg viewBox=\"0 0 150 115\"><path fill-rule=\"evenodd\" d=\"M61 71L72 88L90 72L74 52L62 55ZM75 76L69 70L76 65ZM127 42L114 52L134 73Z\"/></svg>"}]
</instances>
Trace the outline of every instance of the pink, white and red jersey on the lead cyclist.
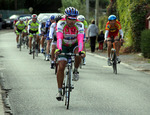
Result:
<instances>
[{"instance_id":1,"label":"pink, white and red jersey on the lead cyclist","mask_svg":"<svg viewBox=\"0 0 150 115\"><path fill-rule=\"evenodd\" d=\"M57 23L56 34L58 49L62 50L62 45L72 46L78 43L79 52L83 50L84 25L79 20L74 27L69 27L65 18L60 20Z\"/></svg>"}]
</instances>

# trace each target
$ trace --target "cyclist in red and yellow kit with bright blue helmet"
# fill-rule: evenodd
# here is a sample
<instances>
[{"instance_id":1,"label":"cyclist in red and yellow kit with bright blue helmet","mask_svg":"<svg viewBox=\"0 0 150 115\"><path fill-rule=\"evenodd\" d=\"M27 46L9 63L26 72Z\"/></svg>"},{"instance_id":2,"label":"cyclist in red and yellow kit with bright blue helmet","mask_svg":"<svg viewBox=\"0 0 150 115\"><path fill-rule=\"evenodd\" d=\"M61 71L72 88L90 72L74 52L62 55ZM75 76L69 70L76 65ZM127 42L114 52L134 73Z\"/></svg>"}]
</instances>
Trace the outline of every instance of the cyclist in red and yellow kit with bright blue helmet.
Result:
<instances>
[{"instance_id":1,"label":"cyclist in red and yellow kit with bright blue helmet","mask_svg":"<svg viewBox=\"0 0 150 115\"><path fill-rule=\"evenodd\" d=\"M105 28L105 43L107 42L107 46L108 46L108 65L111 66L111 59L110 59L110 51L111 51L111 37L114 37L115 40L115 49L116 49L116 54L117 54L117 61L118 63L121 62L121 60L119 59L119 50L120 50L120 42L123 42L123 31L121 29L121 24L120 22L117 20L115 15L110 15L108 17L108 22L106 24L106 28ZM119 33L121 35L121 39L119 41Z\"/></svg>"}]
</instances>

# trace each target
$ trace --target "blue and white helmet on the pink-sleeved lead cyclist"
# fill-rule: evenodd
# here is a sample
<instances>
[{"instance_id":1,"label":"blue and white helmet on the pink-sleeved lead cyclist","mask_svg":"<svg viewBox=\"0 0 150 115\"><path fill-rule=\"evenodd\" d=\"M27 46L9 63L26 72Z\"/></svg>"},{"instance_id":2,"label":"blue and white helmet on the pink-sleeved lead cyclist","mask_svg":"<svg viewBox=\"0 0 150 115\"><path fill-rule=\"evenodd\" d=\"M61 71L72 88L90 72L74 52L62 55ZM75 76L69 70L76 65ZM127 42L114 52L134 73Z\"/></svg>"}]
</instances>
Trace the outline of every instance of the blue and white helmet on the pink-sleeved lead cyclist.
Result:
<instances>
[{"instance_id":1,"label":"blue and white helmet on the pink-sleeved lead cyclist","mask_svg":"<svg viewBox=\"0 0 150 115\"><path fill-rule=\"evenodd\" d=\"M79 11L74 7L68 7L68 8L65 9L65 15L76 17L76 16L79 15Z\"/></svg>"}]
</instances>

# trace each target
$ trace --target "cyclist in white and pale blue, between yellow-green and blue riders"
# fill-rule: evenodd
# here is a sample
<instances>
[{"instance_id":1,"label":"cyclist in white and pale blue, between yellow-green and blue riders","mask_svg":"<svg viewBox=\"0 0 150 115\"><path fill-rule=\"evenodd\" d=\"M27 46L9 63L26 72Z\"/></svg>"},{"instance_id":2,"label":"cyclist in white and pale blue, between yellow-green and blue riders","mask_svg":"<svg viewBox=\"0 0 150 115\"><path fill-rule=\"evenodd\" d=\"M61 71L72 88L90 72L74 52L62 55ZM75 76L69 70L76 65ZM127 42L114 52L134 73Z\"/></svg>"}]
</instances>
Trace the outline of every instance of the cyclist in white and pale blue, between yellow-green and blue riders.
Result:
<instances>
[{"instance_id":1,"label":"cyclist in white and pale blue, between yellow-green and blue riders","mask_svg":"<svg viewBox=\"0 0 150 115\"><path fill-rule=\"evenodd\" d=\"M42 49L41 49L41 53L44 52L44 41L47 37L47 34L46 34L46 21L47 21L47 16L46 17L43 17L43 19L41 20L40 22L40 25L39 25L39 36L42 36L41 38L41 46L42 46Z\"/></svg>"}]
</instances>

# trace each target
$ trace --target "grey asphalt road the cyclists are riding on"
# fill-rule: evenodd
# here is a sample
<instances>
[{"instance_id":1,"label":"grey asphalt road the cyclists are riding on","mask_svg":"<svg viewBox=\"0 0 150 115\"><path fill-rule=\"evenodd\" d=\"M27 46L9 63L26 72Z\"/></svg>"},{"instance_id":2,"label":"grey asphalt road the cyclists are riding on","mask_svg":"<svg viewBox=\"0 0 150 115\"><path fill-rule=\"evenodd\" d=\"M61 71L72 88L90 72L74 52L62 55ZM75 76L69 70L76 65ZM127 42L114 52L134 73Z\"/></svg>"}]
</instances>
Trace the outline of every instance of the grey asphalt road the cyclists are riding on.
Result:
<instances>
[{"instance_id":1,"label":"grey asphalt road the cyclists are riding on","mask_svg":"<svg viewBox=\"0 0 150 115\"><path fill-rule=\"evenodd\" d=\"M118 74L100 56L88 53L87 65L74 82L70 110L55 98L54 70L16 48L15 34L0 34L0 65L14 115L149 115L150 75L118 65Z\"/></svg>"}]
</instances>

